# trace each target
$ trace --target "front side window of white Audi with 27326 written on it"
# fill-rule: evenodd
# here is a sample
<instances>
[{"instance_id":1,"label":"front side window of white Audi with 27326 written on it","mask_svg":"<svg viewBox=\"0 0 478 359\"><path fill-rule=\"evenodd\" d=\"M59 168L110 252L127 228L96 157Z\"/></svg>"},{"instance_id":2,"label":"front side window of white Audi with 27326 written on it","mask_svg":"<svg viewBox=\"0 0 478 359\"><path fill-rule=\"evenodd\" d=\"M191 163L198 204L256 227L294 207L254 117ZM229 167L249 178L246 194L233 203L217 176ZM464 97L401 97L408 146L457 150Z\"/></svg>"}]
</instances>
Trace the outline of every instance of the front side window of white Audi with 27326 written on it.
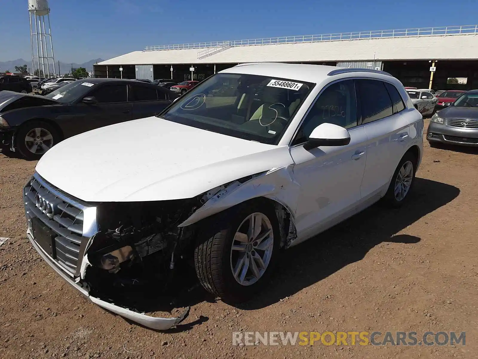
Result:
<instances>
[{"instance_id":1,"label":"front side window of white Audi with 27326 written on it","mask_svg":"<svg viewBox=\"0 0 478 359\"><path fill-rule=\"evenodd\" d=\"M353 80L336 82L320 94L292 145L307 141L315 127L322 123L333 123L347 129L357 126L357 100Z\"/></svg>"}]
</instances>

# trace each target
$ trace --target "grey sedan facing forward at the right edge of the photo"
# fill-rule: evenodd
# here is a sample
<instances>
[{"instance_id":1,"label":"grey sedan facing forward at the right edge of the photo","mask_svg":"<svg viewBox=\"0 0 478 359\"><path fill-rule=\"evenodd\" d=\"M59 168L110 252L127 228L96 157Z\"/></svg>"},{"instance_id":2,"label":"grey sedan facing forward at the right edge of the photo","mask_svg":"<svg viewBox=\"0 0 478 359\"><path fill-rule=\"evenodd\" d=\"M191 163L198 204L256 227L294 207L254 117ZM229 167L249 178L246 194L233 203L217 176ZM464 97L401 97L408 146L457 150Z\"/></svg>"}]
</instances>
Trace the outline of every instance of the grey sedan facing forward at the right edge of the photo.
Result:
<instances>
[{"instance_id":1,"label":"grey sedan facing forward at the right edge of the photo","mask_svg":"<svg viewBox=\"0 0 478 359\"><path fill-rule=\"evenodd\" d=\"M428 125L426 139L430 146L478 146L478 90L467 91L446 106Z\"/></svg>"}]
</instances>

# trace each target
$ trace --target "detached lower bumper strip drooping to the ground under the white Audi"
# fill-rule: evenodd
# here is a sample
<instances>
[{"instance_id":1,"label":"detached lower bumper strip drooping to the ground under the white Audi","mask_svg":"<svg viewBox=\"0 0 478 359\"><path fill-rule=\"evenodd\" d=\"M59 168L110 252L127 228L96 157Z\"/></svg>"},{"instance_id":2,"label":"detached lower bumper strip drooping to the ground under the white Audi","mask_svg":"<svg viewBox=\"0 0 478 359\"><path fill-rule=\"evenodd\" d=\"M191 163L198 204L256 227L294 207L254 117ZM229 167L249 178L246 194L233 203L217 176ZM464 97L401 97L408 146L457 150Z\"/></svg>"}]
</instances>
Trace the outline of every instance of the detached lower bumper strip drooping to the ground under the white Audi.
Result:
<instances>
[{"instance_id":1,"label":"detached lower bumper strip drooping to the ground under the white Audi","mask_svg":"<svg viewBox=\"0 0 478 359\"><path fill-rule=\"evenodd\" d=\"M62 278L65 281L71 284L76 290L78 290L81 294L87 297L90 301L92 301L93 303L99 305L100 307L110 312L113 312L135 323L144 325L148 328L155 329L155 330L170 329L173 326L178 325L181 321L183 321L185 317L187 316L187 314L189 313L189 308L187 308L178 317L156 318L146 314L137 313L130 309L126 309L119 305L116 305L114 303L105 302L99 298L93 297L89 295L89 292L84 287L82 287L81 284L79 284L79 282L76 282L73 278L68 276L62 269L60 269L58 265L55 264L54 260L50 258L50 256L43 251L43 249L33 239L33 234L30 228L27 230L27 236L30 242L32 243L33 247L40 254L40 256L50 265L50 267L52 267L60 276L62 276Z\"/></svg>"}]
</instances>

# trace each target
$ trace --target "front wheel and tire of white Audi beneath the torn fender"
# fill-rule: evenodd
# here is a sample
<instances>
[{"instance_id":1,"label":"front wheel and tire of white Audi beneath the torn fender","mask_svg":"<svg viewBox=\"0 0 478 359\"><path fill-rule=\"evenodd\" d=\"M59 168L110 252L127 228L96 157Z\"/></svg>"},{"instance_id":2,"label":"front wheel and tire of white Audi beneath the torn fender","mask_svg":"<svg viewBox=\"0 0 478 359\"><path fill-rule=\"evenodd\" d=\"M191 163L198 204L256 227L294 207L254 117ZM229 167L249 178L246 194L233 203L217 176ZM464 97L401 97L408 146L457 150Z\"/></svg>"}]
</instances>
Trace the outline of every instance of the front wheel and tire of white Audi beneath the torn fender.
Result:
<instances>
[{"instance_id":1,"label":"front wheel and tire of white Audi beneath the torn fender","mask_svg":"<svg viewBox=\"0 0 478 359\"><path fill-rule=\"evenodd\" d=\"M248 201L206 219L195 249L196 274L224 302L261 290L279 255L279 222L267 202Z\"/></svg>"}]
</instances>

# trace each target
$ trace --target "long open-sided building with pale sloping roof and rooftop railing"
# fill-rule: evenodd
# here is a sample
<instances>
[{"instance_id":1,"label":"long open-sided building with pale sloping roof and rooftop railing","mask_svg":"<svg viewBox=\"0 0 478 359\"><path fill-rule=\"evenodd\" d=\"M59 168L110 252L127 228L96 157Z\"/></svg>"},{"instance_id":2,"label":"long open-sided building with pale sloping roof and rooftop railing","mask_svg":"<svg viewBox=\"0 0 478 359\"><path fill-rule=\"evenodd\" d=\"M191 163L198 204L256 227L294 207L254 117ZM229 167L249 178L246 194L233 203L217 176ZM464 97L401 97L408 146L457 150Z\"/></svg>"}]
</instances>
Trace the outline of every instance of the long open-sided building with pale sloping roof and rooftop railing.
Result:
<instances>
[{"instance_id":1,"label":"long open-sided building with pale sloping roof and rooftop railing","mask_svg":"<svg viewBox=\"0 0 478 359\"><path fill-rule=\"evenodd\" d=\"M478 25L147 46L94 66L95 77L203 80L245 62L375 68L404 86L478 88ZM191 71L192 70L192 71Z\"/></svg>"}]
</instances>

